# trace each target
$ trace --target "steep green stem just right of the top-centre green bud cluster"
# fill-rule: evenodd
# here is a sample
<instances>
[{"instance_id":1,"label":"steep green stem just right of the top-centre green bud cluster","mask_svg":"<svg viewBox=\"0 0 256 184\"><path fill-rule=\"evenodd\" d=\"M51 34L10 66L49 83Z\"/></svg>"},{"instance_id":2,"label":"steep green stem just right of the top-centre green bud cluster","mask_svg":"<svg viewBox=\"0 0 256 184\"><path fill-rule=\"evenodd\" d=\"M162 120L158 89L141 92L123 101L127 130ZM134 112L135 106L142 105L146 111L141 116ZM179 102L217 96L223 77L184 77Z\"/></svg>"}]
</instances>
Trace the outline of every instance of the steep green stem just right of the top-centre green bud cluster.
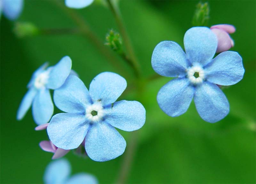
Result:
<instances>
[{"instance_id":1,"label":"steep green stem just right of the top-centre green bud cluster","mask_svg":"<svg viewBox=\"0 0 256 184\"><path fill-rule=\"evenodd\" d=\"M125 48L128 52L128 56L130 57L130 59L127 58L127 57L124 57L124 59L125 59L125 61L128 62L129 65L132 66L132 68L133 68L133 70L136 74L136 77L139 78L140 74L141 74L140 65L137 61L137 58L136 58L135 54L134 54L134 51L133 51L133 48L132 48L132 43L131 43L131 41L129 39L129 36L126 32L126 29L124 27L120 11L119 11L118 7L113 4L112 0L107 0L107 2L108 2L110 10L112 11L112 13L114 15L117 26L118 26L119 31L122 35L123 40L124 40L124 45L125 45Z\"/></svg>"}]
</instances>

